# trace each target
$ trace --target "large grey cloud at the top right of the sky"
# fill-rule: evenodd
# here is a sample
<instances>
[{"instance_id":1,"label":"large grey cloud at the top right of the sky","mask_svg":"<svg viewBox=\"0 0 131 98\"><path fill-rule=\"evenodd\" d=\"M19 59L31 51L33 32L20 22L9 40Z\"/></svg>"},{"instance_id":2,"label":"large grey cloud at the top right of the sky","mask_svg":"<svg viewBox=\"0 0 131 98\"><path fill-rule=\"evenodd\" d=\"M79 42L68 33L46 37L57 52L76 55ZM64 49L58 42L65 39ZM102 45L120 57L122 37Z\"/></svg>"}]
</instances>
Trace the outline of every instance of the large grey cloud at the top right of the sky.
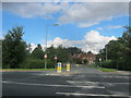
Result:
<instances>
[{"instance_id":1,"label":"large grey cloud at the top right of the sky","mask_svg":"<svg viewBox=\"0 0 131 98\"><path fill-rule=\"evenodd\" d=\"M128 3L74 3L63 11L59 22L63 24L87 24L109 21L128 14Z\"/></svg>"}]
</instances>

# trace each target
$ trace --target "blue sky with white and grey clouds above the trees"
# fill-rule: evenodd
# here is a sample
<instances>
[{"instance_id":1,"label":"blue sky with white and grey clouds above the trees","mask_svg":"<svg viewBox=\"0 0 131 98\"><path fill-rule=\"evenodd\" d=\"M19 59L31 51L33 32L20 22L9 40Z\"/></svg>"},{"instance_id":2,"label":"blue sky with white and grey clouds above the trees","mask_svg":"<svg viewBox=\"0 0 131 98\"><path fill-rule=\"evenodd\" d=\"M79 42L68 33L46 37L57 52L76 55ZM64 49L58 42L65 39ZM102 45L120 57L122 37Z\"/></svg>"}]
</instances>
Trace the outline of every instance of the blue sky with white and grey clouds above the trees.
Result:
<instances>
[{"instance_id":1,"label":"blue sky with white and grey clouds above the trees","mask_svg":"<svg viewBox=\"0 0 131 98\"><path fill-rule=\"evenodd\" d=\"M55 26L55 24L59 24ZM128 2L2 2L2 37L24 27L23 40L43 48L79 47L97 53L129 25ZM47 30L46 30L47 28Z\"/></svg>"}]
</instances>

